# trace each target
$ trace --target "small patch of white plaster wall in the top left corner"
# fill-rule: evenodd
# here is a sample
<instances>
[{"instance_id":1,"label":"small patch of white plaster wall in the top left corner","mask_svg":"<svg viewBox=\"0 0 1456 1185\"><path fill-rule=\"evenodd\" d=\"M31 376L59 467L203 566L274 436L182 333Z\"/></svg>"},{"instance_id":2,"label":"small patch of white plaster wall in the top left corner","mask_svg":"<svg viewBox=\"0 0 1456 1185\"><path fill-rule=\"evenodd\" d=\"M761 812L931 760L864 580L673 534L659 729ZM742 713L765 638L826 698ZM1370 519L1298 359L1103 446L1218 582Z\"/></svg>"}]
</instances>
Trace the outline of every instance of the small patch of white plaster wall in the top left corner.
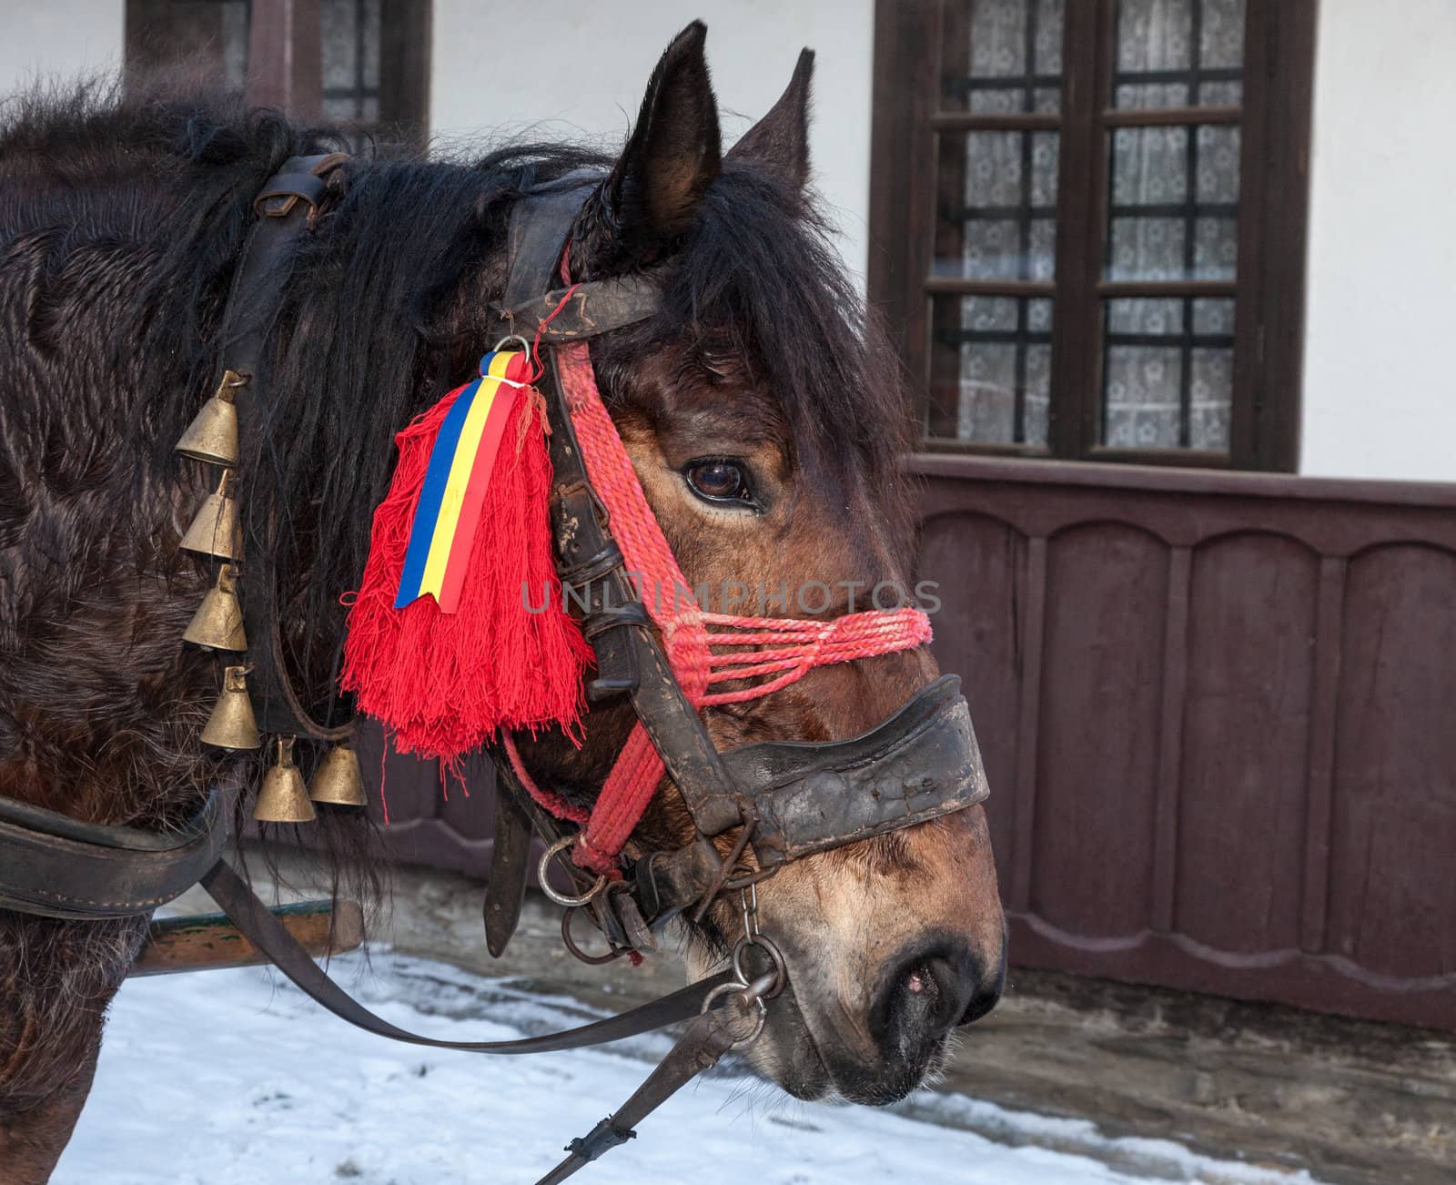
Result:
<instances>
[{"instance_id":1,"label":"small patch of white plaster wall in the top left corner","mask_svg":"<svg viewBox=\"0 0 1456 1185\"><path fill-rule=\"evenodd\" d=\"M0 0L0 99L36 79L119 70L125 0Z\"/></svg>"}]
</instances>

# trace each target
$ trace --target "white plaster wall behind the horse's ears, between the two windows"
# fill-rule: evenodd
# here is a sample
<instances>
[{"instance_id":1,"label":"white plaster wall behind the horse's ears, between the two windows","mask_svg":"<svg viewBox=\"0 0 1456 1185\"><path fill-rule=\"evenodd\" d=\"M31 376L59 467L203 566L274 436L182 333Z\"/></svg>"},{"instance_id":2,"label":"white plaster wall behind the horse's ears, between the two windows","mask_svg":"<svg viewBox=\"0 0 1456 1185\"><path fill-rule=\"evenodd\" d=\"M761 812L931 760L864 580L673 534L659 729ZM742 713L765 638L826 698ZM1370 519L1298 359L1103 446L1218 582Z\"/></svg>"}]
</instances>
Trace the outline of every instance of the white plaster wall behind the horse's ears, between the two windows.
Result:
<instances>
[{"instance_id":1,"label":"white plaster wall behind the horse's ears, between the two windows","mask_svg":"<svg viewBox=\"0 0 1456 1185\"><path fill-rule=\"evenodd\" d=\"M814 61L814 182L860 277L869 211L872 0L435 0L430 116L444 140L488 134L626 140L648 74L695 17L731 144Z\"/></svg>"}]
</instances>

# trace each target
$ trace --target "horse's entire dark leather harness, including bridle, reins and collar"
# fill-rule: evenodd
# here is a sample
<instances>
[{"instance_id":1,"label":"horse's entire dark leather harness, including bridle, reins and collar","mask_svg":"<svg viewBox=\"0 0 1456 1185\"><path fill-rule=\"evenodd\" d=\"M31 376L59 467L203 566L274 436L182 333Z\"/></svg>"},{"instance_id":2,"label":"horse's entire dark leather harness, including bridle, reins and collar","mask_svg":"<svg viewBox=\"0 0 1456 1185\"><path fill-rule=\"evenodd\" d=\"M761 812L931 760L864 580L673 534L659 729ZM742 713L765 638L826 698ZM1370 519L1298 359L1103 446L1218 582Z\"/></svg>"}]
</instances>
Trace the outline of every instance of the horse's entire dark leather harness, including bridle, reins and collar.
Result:
<instances>
[{"instance_id":1,"label":"horse's entire dark leather harness, including bridle, reins and collar","mask_svg":"<svg viewBox=\"0 0 1456 1185\"><path fill-rule=\"evenodd\" d=\"M226 368L250 377L239 393L245 434L256 429L264 406L268 330L297 243L312 229L325 188L344 160L342 154L296 157L265 183L255 202L259 220L245 243L218 335ZM801 856L967 809L989 793L954 675L920 689L888 719L846 741L772 741L728 751L712 742L632 582L572 421L562 346L639 323L661 301L655 280L646 274L556 285L578 214L598 185L600 178L566 178L517 201L499 316L505 333L530 339L546 355L540 386L552 428L556 568L563 584L585 590L579 626L596 652L587 697L629 697L692 815L695 836L676 850L623 859L610 878L593 879L561 860L584 891L549 892L571 907L563 933L574 952L581 954L568 929L574 911L585 911L606 936L609 955L584 956L596 962L652 951L657 932L670 919L690 911L702 920L716 900L738 894L744 938L731 970L562 1034L505 1042L434 1041L390 1025L333 984L226 863L230 812L221 792L214 790L185 827L166 836L84 824L0 798L0 908L79 920L137 916L201 882L237 929L301 990L342 1019L392 1039L523 1054L616 1041L692 1018L644 1086L588 1136L574 1140L568 1159L543 1182L562 1181L630 1138L644 1115L761 1029L766 1000L785 988L786 968L773 942L757 930L759 879ZM259 724L272 732L336 738L344 729L313 721L294 693L277 645L277 590L256 585L248 585L243 607L249 636L266 639L253 675L262 691ZM575 841L549 809L552 798L534 786L505 741L492 751L499 774L485 905L492 954L501 954L520 917L533 831L552 852ZM732 831L735 837L728 834ZM546 884L545 875L542 881Z\"/></svg>"}]
</instances>

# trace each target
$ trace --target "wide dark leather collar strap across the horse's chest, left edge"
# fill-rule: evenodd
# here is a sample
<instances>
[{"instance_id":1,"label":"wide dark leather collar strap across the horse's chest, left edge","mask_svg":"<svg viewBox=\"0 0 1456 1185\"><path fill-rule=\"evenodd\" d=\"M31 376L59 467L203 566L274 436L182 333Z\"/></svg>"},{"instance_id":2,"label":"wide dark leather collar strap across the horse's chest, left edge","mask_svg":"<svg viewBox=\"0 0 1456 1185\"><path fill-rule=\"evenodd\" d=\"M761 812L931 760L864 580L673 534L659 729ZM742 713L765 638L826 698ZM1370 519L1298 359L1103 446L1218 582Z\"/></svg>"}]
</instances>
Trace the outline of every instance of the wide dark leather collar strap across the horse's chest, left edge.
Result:
<instances>
[{"instance_id":1,"label":"wide dark leather collar strap across the horse's chest, left edge","mask_svg":"<svg viewBox=\"0 0 1456 1185\"><path fill-rule=\"evenodd\" d=\"M0 907L77 922L150 913L195 885L227 840L218 790L162 834L0 798Z\"/></svg>"}]
</instances>

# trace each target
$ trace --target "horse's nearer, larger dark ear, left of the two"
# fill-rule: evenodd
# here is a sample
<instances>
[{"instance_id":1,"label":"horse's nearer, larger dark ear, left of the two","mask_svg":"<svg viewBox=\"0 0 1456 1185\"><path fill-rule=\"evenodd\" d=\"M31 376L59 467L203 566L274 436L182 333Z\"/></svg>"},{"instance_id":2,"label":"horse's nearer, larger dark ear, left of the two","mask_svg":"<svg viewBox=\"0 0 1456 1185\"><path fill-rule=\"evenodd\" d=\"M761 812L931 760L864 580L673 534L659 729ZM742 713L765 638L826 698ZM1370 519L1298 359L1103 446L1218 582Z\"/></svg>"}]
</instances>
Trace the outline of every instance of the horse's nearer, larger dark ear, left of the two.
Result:
<instances>
[{"instance_id":1,"label":"horse's nearer, larger dark ear, left of the two","mask_svg":"<svg viewBox=\"0 0 1456 1185\"><path fill-rule=\"evenodd\" d=\"M613 237L626 237L632 246L687 230L697 202L722 166L718 100L703 55L706 38L702 20L673 38L652 71L632 137L607 181Z\"/></svg>"}]
</instances>

